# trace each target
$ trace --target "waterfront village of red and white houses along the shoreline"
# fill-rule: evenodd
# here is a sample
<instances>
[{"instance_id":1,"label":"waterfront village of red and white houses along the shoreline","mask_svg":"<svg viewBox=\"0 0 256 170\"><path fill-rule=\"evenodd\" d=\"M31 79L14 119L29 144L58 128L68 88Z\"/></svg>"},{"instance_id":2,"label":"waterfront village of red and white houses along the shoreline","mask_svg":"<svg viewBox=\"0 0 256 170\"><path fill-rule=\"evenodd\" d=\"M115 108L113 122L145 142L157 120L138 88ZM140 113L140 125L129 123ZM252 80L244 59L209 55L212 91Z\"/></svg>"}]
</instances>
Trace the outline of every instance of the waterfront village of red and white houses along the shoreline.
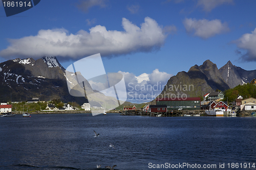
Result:
<instances>
[{"instance_id":1,"label":"waterfront village of red and white houses along the shoreline","mask_svg":"<svg viewBox=\"0 0 256 170\"><path fill-rule=\"evenodd\" d=\"M256 79L251 83L256 88ZM244 86L244 85L243 85ZM238 91L238 90L234 90ZM253 90L254 91L254 90ZM233 92L232 92L233 93ZM108 109L109 113L121 113L121 115L149 115L149 116L256 116L256 99L247 95L237 94L233 101L224 101L225 94L216 90L201 97L191 98L156 98L150 103L131 104ZM245 97L245 98L244 98ZM127 103L126 103L127 104ZM2 102L0 114L22 114L30 113L91 113L92 110L103 113L104 107L92 106L83 103L81 106L76 102L62 103L60 100L40 101L32 98L26 102Z\"/></svg>"}]
</instances>

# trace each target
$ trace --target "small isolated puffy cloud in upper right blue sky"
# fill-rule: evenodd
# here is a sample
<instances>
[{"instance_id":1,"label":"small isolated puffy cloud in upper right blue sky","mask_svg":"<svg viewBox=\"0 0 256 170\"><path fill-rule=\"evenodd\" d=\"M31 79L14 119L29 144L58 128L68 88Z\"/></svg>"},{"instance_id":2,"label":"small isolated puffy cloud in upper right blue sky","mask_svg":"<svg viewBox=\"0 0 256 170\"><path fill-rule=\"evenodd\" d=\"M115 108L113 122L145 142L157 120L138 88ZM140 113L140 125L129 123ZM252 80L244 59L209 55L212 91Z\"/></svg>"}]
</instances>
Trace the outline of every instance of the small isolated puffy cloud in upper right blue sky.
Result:
<instances>
[{"instance_id":1,"label":"small isolated puffy cloud in upper right blue sky","mask_svg":"<svg viewBox=\"0 0 256 170\"><path fill-rule=\"evenodd\" d=\"M192 19L186 18L183 21L183 25L188 33L194 33L203 39L215 36L217 34L222 34L229 31L226 22L222 23L221 20L207 20L207 19Z\"/></svg>"}]
</instances>

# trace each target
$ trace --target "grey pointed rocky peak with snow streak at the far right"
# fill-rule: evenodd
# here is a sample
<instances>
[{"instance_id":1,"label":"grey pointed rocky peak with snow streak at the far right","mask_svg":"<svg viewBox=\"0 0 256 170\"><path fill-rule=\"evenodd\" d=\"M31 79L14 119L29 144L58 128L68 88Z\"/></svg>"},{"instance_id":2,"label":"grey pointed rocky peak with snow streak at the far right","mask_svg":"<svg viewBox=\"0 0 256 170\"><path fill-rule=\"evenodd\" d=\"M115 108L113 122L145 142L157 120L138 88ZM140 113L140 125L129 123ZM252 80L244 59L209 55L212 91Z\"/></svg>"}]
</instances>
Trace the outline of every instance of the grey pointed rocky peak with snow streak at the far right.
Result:
<instances>
[{"instance_id":1,"label":"grey pointed rocky peak with snow streak at the far right","mask_svg":"<svg viewBox=\"0 0 256 170\"><path fill-rule=\"evenodd\" d=\"M230 61L221 67L219 71L230 88L234 88L239 84L249 83L256 78L256 70L247 71L241 67L234 66Z\"/></svg>"}]
</instances>

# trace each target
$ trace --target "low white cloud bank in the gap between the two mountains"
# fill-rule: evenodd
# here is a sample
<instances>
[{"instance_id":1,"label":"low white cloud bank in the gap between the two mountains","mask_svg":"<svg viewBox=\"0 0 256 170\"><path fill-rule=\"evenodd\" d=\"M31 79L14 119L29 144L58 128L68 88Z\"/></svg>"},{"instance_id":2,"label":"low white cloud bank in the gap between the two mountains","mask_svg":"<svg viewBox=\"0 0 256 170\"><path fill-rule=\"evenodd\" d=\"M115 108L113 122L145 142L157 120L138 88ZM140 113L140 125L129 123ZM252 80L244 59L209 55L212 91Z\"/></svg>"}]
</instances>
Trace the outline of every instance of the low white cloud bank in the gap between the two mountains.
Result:
<instances>
[{"instance_id":1,"label":"low white cloud bank in the gap between the two mountains","mask_svg":"<svg viewBox=\"0 0 256 170\"><path fill-rule=\"evenodd\" d=\"M167 81L173 75L161 72L158 69L153 70L151 74L143 73L135 76L130 72L122 72L124 77L127 101L132 103L150 102L160 94Z\"/></svg>"}]
</instances>

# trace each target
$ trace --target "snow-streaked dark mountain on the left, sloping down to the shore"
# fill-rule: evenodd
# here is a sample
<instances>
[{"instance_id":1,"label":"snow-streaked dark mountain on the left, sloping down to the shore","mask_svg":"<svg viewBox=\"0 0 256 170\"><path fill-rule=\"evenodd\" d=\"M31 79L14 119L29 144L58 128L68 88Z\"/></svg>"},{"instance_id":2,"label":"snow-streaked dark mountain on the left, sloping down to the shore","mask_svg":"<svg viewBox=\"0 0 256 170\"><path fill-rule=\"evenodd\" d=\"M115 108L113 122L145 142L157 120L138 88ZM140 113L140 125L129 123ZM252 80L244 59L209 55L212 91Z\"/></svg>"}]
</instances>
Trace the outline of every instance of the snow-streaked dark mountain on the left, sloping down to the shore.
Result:
<instances>
[{"instance_id":1,"label":"snow-streaked dark mountain on the left, sloping down to the shore","mask_svg":"<svg viewBox=\"0 0 256 170\"><path fill-rule=\"evenodd\" d=\"M0 63L0 101L27 101L32 98L40 98L41 101L60 99L80 105L90 100L91 106L98 107L118 104L115 98L93 90L79 71L74 73L63 68L56 57L38 60L17 58Z\"/></svg>"}]
</instances>

